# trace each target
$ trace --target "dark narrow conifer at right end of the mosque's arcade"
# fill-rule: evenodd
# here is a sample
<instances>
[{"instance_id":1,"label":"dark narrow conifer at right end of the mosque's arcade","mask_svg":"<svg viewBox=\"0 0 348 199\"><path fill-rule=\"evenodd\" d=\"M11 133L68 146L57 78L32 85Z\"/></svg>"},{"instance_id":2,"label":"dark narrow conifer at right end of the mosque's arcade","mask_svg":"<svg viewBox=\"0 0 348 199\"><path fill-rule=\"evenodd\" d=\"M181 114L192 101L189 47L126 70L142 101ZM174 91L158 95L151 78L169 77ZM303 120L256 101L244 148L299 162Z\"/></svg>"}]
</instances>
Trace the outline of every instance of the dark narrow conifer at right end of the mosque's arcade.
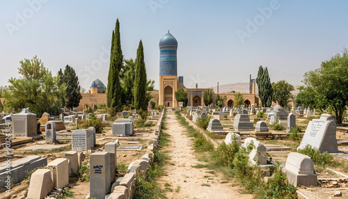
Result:
<instances>
[{"instance_id":1,"label":"dark narrow conifer at right end of the mosque's arcade","mask_svg":"<svg viewBox=\"0 0 348 199\"><path fill-rule=\"evenodd\" d=\"M273 88L271 84L271 79L269 79L268 69L259 67L258 77L256 78L256 83L258 83L258 93L264 107L270 107L272 104Z\"/></svg>"}]
</instances>

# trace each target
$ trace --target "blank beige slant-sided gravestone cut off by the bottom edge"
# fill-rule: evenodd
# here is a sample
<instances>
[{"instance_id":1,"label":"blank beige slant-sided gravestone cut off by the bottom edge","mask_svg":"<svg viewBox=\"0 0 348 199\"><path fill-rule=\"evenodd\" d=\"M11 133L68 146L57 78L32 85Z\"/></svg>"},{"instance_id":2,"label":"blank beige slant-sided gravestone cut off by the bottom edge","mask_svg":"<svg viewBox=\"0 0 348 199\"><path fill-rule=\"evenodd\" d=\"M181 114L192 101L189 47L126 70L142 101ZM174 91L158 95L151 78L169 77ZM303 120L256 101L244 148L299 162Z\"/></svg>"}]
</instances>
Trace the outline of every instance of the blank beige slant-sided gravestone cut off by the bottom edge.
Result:
<instances>
[{"instance_id":1,"label":"blank beige slant-sided gravestone cut off by the bottom edge","mask_svg":"<svg viewBox=\"0 0 348 199\"><path fill-rule=\"evenodd\" d=\"M26 199L45 198L53 190L51 170L38 169L31 174L28 196Z\"/></svg>"}]
</instances>

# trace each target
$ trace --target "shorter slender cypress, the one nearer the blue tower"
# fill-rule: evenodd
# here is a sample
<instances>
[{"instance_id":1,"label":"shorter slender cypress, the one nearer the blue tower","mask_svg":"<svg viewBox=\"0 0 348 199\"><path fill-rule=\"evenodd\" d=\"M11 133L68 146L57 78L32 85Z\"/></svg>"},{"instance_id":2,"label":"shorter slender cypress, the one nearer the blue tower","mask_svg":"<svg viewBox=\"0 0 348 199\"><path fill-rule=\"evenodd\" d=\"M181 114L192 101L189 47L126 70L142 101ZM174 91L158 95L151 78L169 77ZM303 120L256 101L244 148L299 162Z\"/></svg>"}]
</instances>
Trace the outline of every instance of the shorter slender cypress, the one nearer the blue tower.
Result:
<instances>
[{"instance_id":1,"label":"shorter slender cypress, the one nearer the blue tower","mask_svg":"<svg viewBox=\"0 0 348 199\"><path fill-rule=\"evenodd\" d=\"M144 62L143 42L139 42L138 50L136 51L135 61L135 82L134 82L134 106L135 109L146 110L147 79Z\"/></svg>"}]
</instances>

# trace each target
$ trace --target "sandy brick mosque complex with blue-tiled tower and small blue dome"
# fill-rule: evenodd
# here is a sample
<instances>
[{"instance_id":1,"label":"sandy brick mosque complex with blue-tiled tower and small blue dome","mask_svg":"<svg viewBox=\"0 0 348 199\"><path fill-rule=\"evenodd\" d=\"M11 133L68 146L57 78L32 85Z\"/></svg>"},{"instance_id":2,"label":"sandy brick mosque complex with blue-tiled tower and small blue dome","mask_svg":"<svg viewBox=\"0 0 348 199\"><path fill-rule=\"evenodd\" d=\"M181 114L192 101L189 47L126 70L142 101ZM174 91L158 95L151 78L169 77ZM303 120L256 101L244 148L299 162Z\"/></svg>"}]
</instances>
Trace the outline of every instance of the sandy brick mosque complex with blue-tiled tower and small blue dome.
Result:
<instances>
[{"instance_id":1,"label":"sandy brick mosque complex with blue-tiled tower and small blue dome","mask_svg":"<svg viewBox=\"0 0 348 199\"><path fill-rule=\"evenodd\" d=\"M205 106L203 102L204 93L213 93L213 102L216 104L216 96L226 97L224 106L233 107L235 102L234 93L214 93L213 88L186 88L184 86L184 77L177 76L177 40L169 33L166 33L159 40L159 90L150 91L153 96L152 100L156 104L166 107L177 107L178 102L175 100L175 92L183 88L187 91L187 106ZM78 111L93 107L96 110L97 104L106 104L106 87L99 79L93 81L90 86L90 94L82 94L82 99L77 107ZM219 90L219 89L218 89ZM251 83L250 93L241 93L244 98L244 107L260 106L260 98L255 94L255 81ZM238 91L238 90L237 90Z\"/></svg>"}]
</instances>

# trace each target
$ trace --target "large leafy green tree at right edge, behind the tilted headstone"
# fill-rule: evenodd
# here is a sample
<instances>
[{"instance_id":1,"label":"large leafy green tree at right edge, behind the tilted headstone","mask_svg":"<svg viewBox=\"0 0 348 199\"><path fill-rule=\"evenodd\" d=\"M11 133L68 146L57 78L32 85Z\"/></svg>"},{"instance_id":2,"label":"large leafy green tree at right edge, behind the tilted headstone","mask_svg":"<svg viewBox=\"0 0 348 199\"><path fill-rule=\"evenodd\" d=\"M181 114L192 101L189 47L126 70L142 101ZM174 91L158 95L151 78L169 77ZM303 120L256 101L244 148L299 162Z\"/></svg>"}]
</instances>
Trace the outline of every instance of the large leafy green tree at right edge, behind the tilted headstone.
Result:
<instances>
[{"instance_id":1,"label":"large leafy green tree at right edge, behind the tilted headstone","mask_svg":"<svg viewBox=\"0 0 348 199\"><path fill-rule=\"evenodd\" d=\"M331 109L339 124L348 102L348 51L322 62L317 70L304 74L306 93L314 93L315 108Z\"/></svg>"}]
</instances>

